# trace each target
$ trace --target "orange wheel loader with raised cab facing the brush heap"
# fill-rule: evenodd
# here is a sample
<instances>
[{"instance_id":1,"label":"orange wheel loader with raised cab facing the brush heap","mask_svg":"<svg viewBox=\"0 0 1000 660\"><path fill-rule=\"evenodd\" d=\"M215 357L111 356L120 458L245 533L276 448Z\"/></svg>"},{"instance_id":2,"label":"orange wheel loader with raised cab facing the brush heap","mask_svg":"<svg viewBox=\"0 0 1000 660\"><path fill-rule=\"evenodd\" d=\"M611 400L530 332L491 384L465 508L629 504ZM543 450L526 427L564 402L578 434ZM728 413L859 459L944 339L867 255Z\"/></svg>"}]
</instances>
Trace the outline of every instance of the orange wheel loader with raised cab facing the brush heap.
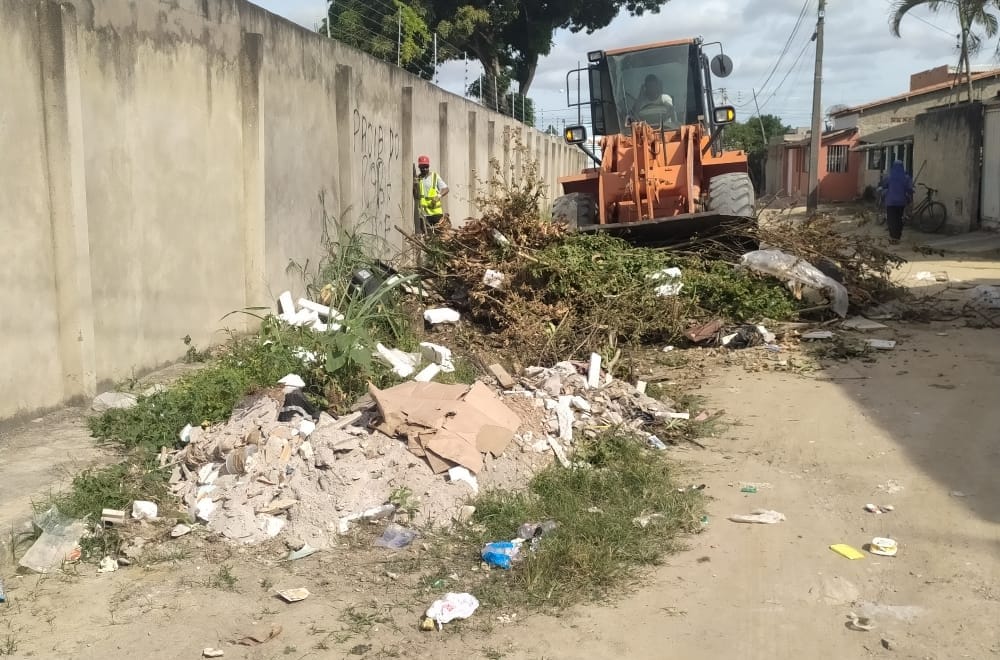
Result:
<instances>
[{"instance_id":1,"label":"orange wheel loader with raised cab facing the brush heap","mask_svg":"<svg viewBox=\"0 0 1000 660\"><path fill-rule=\"evenodd\" d=\"M593 51L589 66L567 75L570 107L590 106L600 156L583 126L565 140L596 163L562 177L554 220L579 231L605 230L637 242L670 242L727 220L752 221L747 156L721 146L732 106L716 106L712 75L732 72L725 54L711 61L701 39ZM570 76L586 75L590 100L569 101ZM578 79L579 80L579 79Z\"/></svg>"}]
</instances>

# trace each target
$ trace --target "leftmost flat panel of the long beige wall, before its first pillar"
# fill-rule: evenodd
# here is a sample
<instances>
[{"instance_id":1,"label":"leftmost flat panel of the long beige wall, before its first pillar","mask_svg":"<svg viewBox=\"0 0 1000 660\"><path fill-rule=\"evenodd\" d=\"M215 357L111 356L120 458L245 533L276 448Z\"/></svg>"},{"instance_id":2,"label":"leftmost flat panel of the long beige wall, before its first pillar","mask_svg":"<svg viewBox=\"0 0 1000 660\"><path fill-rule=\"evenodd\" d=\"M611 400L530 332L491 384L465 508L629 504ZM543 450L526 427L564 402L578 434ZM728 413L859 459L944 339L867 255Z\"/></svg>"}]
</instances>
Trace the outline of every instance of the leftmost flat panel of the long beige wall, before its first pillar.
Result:
<instances>
[{"instance_id":1,"label":"leftmost flat panel of the long beige wall, before its first pillar","mask_svg":"<svg viewBox=\"0 0 1000 660\"><path fill-rule=\"evenodd\" d=\"M0 0L0 416L63 399L36 8Z\"/></svg>"}]
</instances>

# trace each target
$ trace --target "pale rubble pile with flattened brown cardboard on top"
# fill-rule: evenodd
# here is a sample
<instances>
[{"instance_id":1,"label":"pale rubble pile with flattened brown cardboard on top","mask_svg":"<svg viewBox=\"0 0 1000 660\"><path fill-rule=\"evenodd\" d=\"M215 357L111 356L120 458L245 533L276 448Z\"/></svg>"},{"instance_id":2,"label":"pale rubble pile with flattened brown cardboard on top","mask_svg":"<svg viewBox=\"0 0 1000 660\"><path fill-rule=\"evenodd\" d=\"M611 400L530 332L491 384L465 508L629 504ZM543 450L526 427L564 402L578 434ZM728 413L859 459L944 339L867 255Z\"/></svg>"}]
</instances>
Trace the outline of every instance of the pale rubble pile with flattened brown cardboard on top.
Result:
<instances>
[{"instance_id":1,"label":"pale rubble pile with flattened brown cardboard on top","mask_svg":"<svg viewBox=\"0 0 1000 660\"><path fill-rule=\"evenodd\" d=\"M283 379L284 389L247 397L226 423L182 432L184 447L165 457L172 492L232 541L285 534L322 548L364 519L448 523L480 484L523 487L552 455L571 465L581 437L622 427L657 445L644 427L687 418L604 375L596 355L519 379L491 371L499 394L483 382L410 381L371 388L370 402L339 419L311 410L297 379Z\"/></svg>"}]
</instances>

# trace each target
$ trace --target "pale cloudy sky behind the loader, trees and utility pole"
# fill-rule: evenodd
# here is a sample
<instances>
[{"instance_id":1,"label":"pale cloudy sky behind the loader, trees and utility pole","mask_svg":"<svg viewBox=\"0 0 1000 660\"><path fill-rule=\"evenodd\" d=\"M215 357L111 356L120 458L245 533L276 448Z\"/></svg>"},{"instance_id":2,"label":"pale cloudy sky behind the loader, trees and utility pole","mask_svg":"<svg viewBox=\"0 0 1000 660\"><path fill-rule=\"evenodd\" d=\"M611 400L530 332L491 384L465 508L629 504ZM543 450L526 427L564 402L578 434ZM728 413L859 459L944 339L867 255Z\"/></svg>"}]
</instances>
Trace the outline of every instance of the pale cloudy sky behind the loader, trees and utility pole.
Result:
<instances>
[{"instance_id":1,"label":"pale cloudy sky behind the loader, trees and utility pole","mask_svg":"<svg viewBox=\"0 0 1000 660\"><path fill-rule=\"evenodd\" d=\"M326 7L326 0L252 1L310 29L319 24ZM384 2L372 0L372 5L377 9ZM902 38L897 38L889 33L891 4L892 0L828 1L824 109L905 92L911 73L957 64L958 22L950 13L911 12L903 20ZM817 0L668 0L659 14L619 15L611 25L590 35L559 30L552 52L540 61L528 93L538 110L536 123L541 127L576 123L577 111L567 108L566 74L577 68L577 62L586 64L587 51L700 36L706 42L722 42L734 62L733 74L716 79L714 86L717 91L725 88L738 116L756 114L756 90L763 114L776 114L791 126L807 126L815 61L810 37L816 24L816 6ZM803 8L805 18L789 43ZM787 53L780 57L786 44ZM992 44L987 45L973 64L1000 66L992 53ZM439 68L436 82L461 94L480 71L472 62L450 62ZM575 78L570 86L575 97Z\"/></svg>"}]
</instances>

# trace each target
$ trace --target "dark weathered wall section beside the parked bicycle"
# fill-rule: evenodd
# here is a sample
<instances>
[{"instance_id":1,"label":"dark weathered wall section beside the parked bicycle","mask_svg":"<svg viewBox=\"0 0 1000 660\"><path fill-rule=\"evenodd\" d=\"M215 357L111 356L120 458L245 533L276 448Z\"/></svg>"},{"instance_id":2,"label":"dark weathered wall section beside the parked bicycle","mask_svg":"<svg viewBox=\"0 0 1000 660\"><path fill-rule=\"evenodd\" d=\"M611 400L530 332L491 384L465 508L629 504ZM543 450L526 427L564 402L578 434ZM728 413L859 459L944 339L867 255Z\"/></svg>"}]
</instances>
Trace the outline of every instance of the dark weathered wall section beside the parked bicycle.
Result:
<instances>
[{"instance_id":1,"label":"dark weathered wall section beside the parked bicycle","mask_svg":"<svg viewBox=\"0 0 1000 660\"><path fill-rule=\"evenodd\" d=\"M919 115L913 134L913 167L920 181L937 188L948 208L945 231L965 232L979 225L982 183L983 106L965 104ZM917 196L923 194L917 190Z\"/></svg>"}]
</instances>

